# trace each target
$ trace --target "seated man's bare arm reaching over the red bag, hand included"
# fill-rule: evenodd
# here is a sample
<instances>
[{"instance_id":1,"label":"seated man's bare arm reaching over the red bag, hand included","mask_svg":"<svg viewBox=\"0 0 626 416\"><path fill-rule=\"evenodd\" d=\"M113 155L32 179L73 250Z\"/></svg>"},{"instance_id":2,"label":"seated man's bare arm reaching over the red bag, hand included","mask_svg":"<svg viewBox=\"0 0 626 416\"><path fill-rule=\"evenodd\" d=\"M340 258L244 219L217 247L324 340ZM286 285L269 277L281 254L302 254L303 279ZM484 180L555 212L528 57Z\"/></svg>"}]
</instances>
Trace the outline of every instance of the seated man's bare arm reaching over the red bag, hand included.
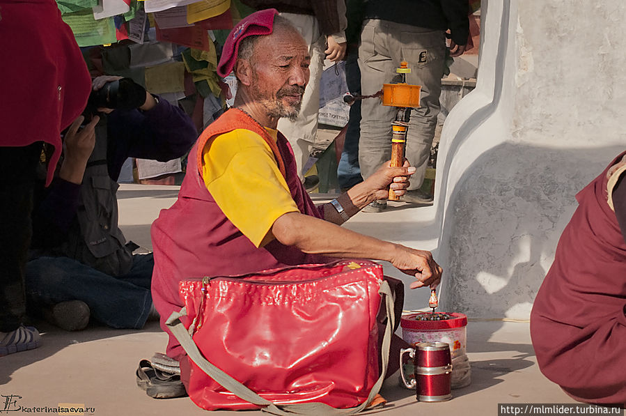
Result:
<instances>
[{"instance_id":1,"label":"seated man's bare arm reaching over the red bag, hand included","mask_svg":"<svg viewBox=\"0 0 626 416\"><path fill-rule=\"evenodd\" d=\"M441 267L430 252L363 236L309 215L281 215L272 225L272 233L282 244L308 254L389 261L407 275L416 277L417 282L413 282L411 288L435 287L441 279Z\"/></svg>"}]
</instances>

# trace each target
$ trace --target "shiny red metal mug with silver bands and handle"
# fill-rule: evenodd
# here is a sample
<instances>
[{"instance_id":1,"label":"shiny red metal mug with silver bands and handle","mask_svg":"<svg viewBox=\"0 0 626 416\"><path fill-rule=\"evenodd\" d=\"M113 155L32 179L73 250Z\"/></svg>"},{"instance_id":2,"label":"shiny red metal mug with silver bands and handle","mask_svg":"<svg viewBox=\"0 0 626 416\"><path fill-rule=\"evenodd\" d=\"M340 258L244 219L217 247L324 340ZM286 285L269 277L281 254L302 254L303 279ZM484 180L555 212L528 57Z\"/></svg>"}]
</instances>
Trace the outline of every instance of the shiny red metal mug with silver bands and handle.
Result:
<instances>
[{"instance_id":1,"label":"shiny red metal mug with silver bands and handle","mask_svg":"<svg viewBox=\"0 0 626 416\"><path fill-rule=\"evenodd\" d=\"M415 379L407 383L402 371L402 355L409 353L415 365ZM420 342L414 348L400 350L402 381L408 388L416 387L418 401L446 401L452 399L452 359L450 346L445 342Z\"/></svg>"}]
</instances>

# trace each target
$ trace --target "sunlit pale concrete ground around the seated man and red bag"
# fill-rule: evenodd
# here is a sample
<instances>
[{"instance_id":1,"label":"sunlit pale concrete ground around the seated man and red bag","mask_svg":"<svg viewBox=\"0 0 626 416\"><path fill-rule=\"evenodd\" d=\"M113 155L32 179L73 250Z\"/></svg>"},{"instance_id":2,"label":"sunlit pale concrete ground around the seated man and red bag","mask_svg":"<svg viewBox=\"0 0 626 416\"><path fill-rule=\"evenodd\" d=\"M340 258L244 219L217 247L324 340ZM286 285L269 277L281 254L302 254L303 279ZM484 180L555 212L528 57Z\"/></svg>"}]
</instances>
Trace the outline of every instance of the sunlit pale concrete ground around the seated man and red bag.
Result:
<instances>
[{"instance_id":1,"label":"sunlit pale concrete ground around the seated man and red bag","mask_svg":"<svg viewBox=\"0 0 626 416\"><path fill-rule=\"evenodd\" d=\"M150 223L160 209L171 206L177 191L178 187L121 185L120 224L127 239L149 249ZM313 198L322 201L327 196ZM435 240L425 236L433 235L429 229L433 218L432 207L394 203L384 213L359 213L346 226L411 247L432 249ZM393 269L385 269L389 275L400 277ZM423 309L428 306L429 294L427 289L412 291L405 308ZM167 337L157 323L148 323L141 331L90 325L81 332L63 332L45 322L37 323L37 328L42 332L40 348L0 358L0 414L9 410L8 415L17 415L19 407L25 413L58 403L95 408L85 415L205 414L188 398L151 399L136 386L134 371L139 360L164 350ZM414 392L386 383L382 395L389 403L370 413L483 416L497 415L497 403L575 403L540 373L527 322L470 319L467 352L472 383L453 390L451 401L417 402ZM226 411L212 414L233 415Z\"/></svg>"}]
</instances>

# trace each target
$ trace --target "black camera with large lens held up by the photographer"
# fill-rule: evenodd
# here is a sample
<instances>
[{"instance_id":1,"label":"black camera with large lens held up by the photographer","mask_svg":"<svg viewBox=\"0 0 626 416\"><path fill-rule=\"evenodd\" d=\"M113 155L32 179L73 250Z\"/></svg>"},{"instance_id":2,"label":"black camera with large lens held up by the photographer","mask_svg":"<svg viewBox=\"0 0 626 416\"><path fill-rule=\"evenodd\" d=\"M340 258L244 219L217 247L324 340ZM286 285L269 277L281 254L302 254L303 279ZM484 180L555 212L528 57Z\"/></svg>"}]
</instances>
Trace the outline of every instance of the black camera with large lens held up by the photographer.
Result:
<instances>
[{"instance_id":1,"label":"black camera with large lens held up by the photographer","mask_svg":"<svg viewBox=\"0 0 626 416\"><path fill-rule=\"evenodd\" d=\"M84 115L85 118L91 119L101 107L130 110L141 107L144 102L146 88L130 78L116 79L107 82L97 91L91 91Z\"/></svg>"}]
</instances>

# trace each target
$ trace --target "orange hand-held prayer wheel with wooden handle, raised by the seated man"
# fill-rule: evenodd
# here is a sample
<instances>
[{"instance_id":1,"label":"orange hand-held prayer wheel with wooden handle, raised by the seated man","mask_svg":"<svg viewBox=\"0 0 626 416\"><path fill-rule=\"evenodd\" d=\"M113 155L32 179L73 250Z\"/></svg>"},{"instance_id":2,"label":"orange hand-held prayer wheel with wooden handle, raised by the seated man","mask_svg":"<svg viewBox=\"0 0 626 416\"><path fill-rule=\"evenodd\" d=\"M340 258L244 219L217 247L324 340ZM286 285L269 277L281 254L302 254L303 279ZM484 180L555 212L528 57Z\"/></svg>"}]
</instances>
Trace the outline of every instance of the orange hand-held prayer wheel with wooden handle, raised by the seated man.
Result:
<instances>
[{"instance_id":1,"label":"orange hand-held prayer wheel with wooden handle, raised by the seated man","mask_svg":"<svg viewBox=\"0 0 626 416\"><path fill-rule=\"evenodd\" d=\"M402 82L398 84L383 84L382 103L390 107L398 107L396 120L391 123L391 167L400 167L405 162L405 143L407 142L407 130L412 108L419 107L419 94L421 86L406 83L407 74L411 68L406 62L400 63L396 72L402 76ZM396 192L389 190L389 199L398 201L400 197Z\"/></svg>"}]
</instances>

